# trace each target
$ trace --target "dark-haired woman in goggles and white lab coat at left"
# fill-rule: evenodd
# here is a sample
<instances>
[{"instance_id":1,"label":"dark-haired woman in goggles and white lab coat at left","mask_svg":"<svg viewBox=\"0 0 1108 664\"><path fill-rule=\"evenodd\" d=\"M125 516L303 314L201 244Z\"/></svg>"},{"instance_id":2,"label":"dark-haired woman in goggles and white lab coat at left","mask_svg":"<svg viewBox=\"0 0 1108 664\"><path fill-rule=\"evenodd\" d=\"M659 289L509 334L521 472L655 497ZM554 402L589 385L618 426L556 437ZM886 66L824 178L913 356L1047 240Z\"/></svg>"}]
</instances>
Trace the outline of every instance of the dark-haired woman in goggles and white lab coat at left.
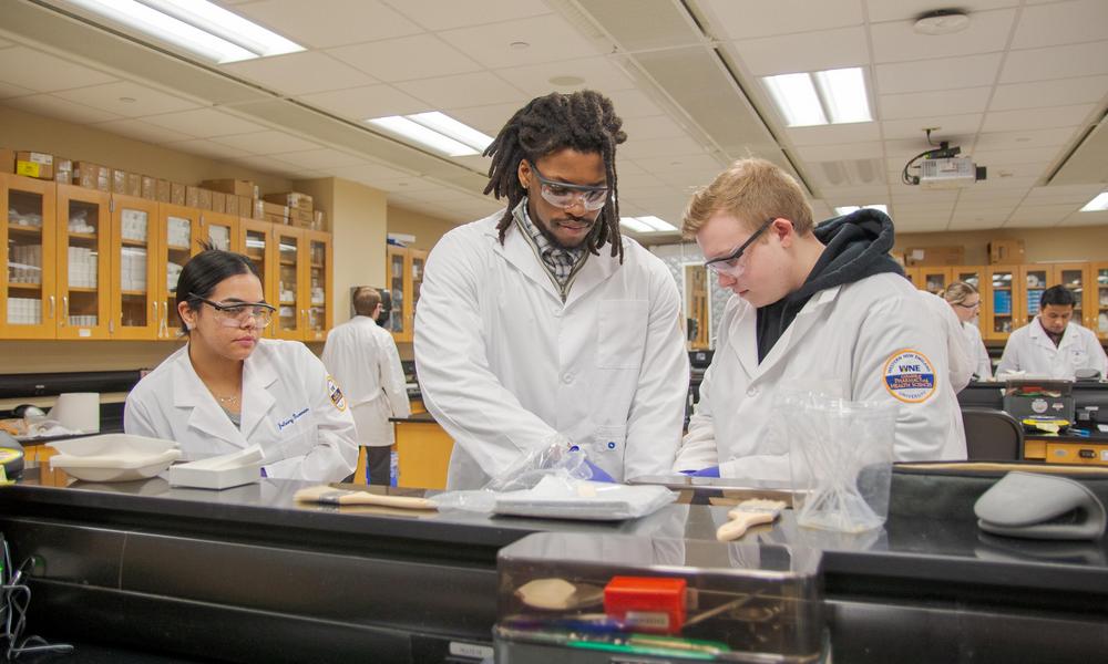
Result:
<instances>
[{"instance_id":1,"label":"dark-haired woman in goggles and white lab coat at left","mask_svg":"<svg viewBox=\"0 0 1108 664\"><path fill-rule=\"evenodd\" d=\"M259 338L274 308L247 257L198 253L176 299L188 344L135 385L126 433L176 440L186 458L257 444L268 477L337 481L353 471L346 400L302 343Z\"/></svg>"}]
</instances>

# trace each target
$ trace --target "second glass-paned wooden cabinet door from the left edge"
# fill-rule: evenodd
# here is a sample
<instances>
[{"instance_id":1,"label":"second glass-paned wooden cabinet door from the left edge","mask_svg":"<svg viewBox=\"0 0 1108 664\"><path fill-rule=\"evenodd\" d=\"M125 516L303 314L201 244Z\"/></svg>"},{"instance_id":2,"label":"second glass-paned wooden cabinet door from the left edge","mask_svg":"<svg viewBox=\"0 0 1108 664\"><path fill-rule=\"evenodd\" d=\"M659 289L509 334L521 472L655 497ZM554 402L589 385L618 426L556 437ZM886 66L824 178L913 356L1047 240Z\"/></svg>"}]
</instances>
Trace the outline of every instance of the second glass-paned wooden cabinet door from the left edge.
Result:
<instances>
[{"instance_id":1,"label":"second glass-paned wooden cabinet door from the left edge","mask_svg":"<svg viewBox=\"0 0 1108 664\"><path fill-rule=\"evenodd\" d=\"M107 339L112 312L112 197L58 185L58 339Z\"/></svg>"}]
</instances>

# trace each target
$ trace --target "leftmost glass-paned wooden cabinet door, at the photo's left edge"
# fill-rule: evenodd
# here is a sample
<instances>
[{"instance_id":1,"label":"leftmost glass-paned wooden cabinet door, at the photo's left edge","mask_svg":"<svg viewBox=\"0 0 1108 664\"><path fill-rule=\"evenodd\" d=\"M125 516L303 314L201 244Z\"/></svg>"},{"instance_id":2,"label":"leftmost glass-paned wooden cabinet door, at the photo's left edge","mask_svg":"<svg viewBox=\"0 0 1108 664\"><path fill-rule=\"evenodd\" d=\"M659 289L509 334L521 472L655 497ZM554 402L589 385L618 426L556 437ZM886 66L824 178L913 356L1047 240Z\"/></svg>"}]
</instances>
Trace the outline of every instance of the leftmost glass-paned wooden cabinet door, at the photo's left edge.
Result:
<instances>
[{"instance_id":1,"label":"leftmost glass-paned wooden cabinet door, at the photo's left edge","mask_svg":"<svg viewBox=\"0 0 1108 664\"><path fill-rule=\"evenodd\" d=\"M55 185L0 174L0 339L54 339Z\"/></svg>"}]
</instances>

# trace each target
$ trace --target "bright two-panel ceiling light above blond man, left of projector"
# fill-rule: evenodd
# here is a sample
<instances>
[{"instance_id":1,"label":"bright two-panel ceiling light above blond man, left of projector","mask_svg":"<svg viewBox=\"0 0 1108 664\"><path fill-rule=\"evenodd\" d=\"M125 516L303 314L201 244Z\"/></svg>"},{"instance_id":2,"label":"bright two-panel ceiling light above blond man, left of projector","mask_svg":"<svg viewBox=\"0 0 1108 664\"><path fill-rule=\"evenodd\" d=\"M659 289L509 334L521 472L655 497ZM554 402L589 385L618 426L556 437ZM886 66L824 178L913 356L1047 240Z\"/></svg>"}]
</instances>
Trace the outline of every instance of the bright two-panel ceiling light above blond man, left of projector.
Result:
<instances>
[{"instance_id":1,"label":"bright two-panel ceiling light above blond man, left of projector","mask_svg":"<svg viewBox=\"0 0 1108 664\"><path fill-rule=\"evenodd\" d=\"M873 120L861 68L762 76L762 83L790 127Z\"/></svg>"}]
</instances>

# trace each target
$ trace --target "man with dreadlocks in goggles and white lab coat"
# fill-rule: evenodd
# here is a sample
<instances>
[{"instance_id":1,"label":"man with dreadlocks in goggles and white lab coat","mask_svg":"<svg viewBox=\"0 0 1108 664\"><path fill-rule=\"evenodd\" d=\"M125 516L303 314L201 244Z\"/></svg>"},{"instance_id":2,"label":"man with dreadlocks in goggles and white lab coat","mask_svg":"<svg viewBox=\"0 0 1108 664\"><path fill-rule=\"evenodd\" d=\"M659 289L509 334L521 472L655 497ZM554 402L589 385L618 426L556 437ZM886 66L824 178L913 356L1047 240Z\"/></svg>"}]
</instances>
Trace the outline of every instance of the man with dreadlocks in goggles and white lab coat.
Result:
<instances>
[{"instance_id":1,"label":"man with dreadlocks in goggles and white lab coat","mask_svg":"<svg viewBox=\"0 0 1108 664\"><path fill-rule=\"evenodd\" d=\"M619 235L612 102L537 97L485 151L491 217L428 259L416 365L454 439L448 488L483 486L529 453L585 452L619 481L668 473L688 356L665 264Z\"/></svg>"}]
</instances>

